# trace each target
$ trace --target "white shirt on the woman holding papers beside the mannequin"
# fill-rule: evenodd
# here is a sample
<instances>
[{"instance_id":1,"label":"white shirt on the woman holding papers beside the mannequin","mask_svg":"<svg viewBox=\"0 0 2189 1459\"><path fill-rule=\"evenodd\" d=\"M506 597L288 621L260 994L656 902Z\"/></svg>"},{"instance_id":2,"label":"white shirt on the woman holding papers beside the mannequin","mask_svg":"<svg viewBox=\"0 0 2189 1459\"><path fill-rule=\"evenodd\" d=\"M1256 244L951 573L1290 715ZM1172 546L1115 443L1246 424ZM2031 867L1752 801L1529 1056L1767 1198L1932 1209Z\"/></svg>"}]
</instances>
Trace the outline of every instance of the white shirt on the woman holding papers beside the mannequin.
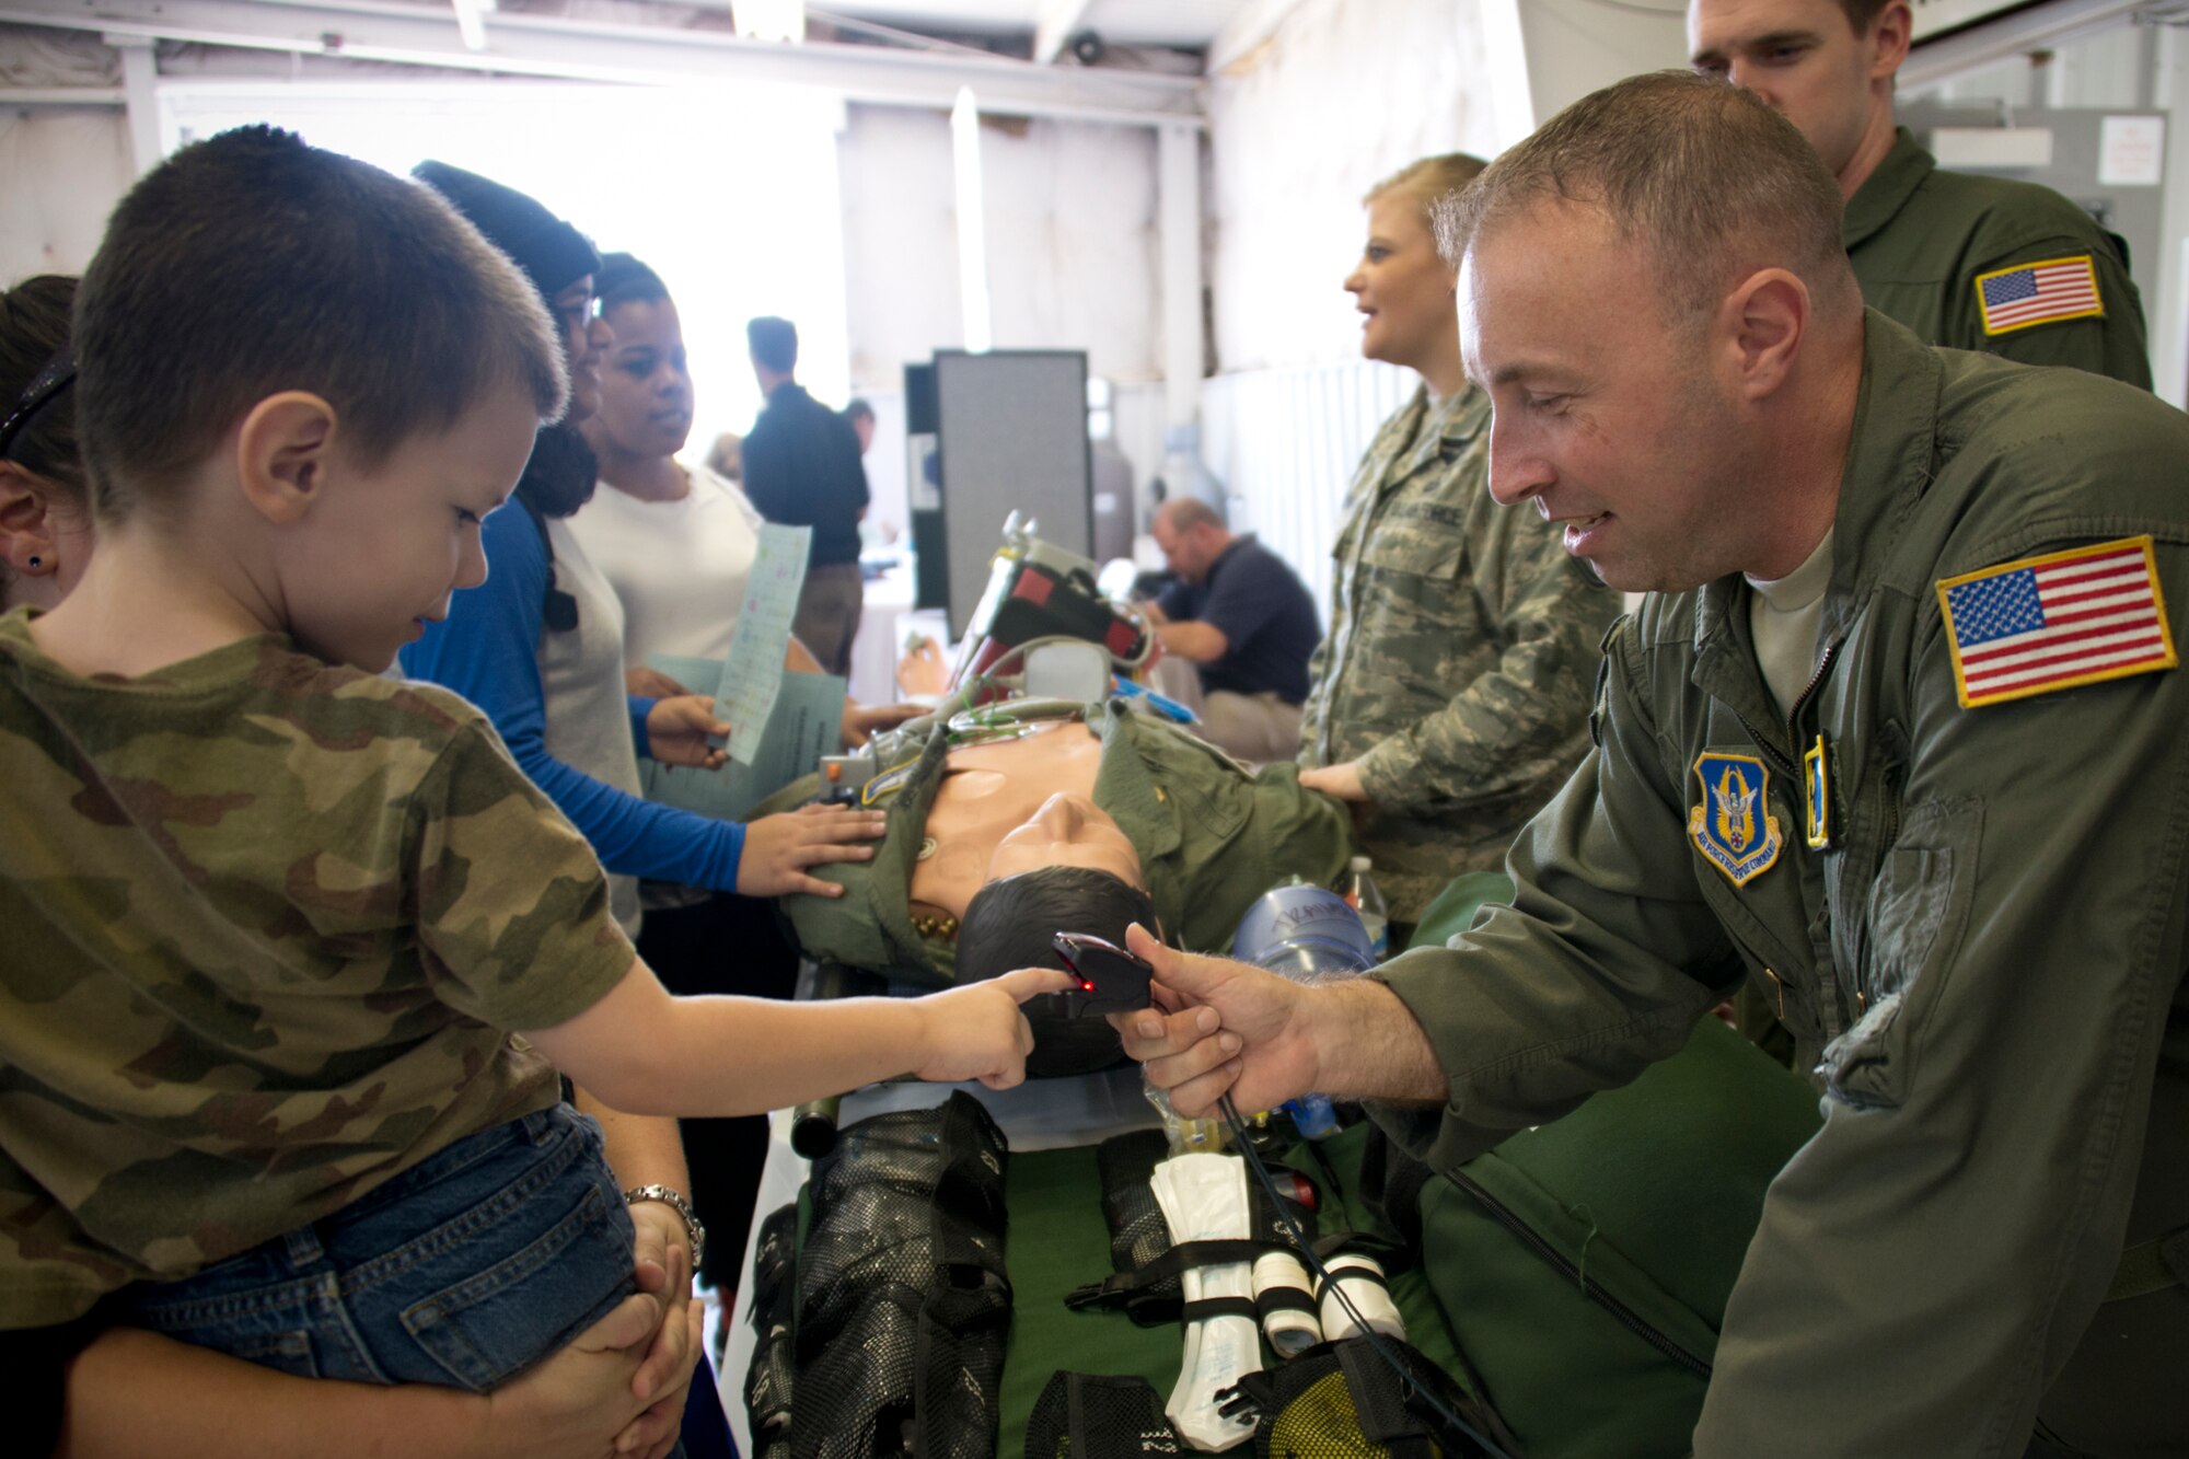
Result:
<instances>
[{"instance_id":1,"label":"white shirt on the woman holding papers beside the mannequin","mask_svg":"<svg viewBox=\"0 0 2189 1459\"><path fill-rule=\"evenodd\" d=\"M650 653L729 655L744 581L760 550L760 513L733 482L685 467L676 502L641 502L602 482L571 532L624 602L624 662Z\"/></svg>"}]
</instances>

